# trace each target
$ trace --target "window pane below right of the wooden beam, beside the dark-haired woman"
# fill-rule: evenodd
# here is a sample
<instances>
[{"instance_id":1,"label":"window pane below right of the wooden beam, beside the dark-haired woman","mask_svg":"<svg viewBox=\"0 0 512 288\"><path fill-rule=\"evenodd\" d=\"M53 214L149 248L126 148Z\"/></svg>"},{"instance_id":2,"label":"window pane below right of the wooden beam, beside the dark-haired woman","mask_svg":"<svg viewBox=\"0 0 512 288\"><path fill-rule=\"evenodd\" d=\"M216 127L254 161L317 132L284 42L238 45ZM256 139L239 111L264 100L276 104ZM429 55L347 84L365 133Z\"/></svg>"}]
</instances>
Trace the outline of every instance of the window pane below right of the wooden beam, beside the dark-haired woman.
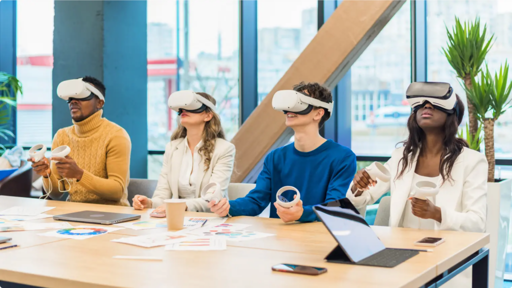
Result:
<instances>
[{"instance_id":1,"label":"window pane below right of the wooden beam, beside the dark-haired woman","mask_svg":"<svg viewBox=\"0 0 512 288\"><path fill-rule=\"evenodd\" d=\"M407 137L411 108L404 99L410 83L408 1L351 67L352 150L356 155L391 155L396 143Z\"/></svg>"}]
</instances>

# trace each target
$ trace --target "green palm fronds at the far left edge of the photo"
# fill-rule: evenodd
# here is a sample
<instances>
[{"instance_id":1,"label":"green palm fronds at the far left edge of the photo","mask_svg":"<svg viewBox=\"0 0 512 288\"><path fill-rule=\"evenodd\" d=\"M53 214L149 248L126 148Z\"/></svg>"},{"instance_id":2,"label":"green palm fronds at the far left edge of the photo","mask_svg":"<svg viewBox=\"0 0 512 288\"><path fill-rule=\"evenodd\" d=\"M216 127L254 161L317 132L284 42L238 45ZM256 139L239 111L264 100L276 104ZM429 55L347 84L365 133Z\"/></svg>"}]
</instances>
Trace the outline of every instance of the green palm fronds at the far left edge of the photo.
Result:
<instances>
[{"instance_id":1,"label":"green palm fronds at the far left edge of the photo","mask_svg":"<svg viewBox=\"0 0 512 288\"><path fill-rule=\"evenodd\" d=\"M11 94L11 89L13 94ZM20 81L13 75L0 72L0 137L9 141L14 138L11 124L11 106L16 106L16 97L23 95L23 87ZM0 144L0 155L7 148Z\"/></svg>"}]
</instances>

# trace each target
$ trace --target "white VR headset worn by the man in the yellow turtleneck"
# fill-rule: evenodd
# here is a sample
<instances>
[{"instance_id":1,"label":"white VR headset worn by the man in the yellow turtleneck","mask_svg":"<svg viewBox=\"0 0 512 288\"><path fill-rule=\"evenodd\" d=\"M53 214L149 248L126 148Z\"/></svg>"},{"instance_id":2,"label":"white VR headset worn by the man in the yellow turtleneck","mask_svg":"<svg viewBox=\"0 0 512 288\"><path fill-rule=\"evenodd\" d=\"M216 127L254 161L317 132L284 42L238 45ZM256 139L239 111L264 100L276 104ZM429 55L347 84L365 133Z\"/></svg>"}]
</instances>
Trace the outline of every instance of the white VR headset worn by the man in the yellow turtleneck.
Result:
<instances>
[{"instance_id":1,"label":"white VR headset worn by the man in the yellow turtleneck","mask_svg":"<svg viewBox=\"0 0 512 288\"><path fill-rule=\"evenodd\" d=\"M103 101L105 100L103 94L101 94L96 87L82 81L82 78L62 81L59 86L57 86L57 95L68 101L68 103L72 100L88 101L91 100L94 95L98 96L98 98Z\"/></svg>"}]
</instances>

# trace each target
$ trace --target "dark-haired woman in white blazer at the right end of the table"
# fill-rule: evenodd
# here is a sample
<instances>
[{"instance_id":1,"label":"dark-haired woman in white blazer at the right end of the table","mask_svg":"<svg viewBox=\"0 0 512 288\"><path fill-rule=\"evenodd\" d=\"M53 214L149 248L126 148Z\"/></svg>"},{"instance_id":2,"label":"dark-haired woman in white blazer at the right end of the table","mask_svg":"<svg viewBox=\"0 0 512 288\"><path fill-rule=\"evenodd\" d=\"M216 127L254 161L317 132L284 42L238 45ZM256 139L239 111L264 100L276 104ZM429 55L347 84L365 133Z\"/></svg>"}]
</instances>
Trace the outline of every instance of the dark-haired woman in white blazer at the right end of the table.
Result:
<instances>
[{"instance_id":1,"label":"dark-haired woman in white blazer at the right end of the table","mask_svg":"<svg viewBox=\"0 0 512 288\"><path fill-rule=\"evenodd\" d=\"M355 207L373 204L391 191L390 227L485 231L487 160L456 136L464 114L464 105L456 97L458 115L430 102L411 114L408 139L385 164L390 182L372 181L364 169L357 172L347 192ZM438 182L437 196L412 197L412 187L420 180Z\"/></svg>"}]
</instances>

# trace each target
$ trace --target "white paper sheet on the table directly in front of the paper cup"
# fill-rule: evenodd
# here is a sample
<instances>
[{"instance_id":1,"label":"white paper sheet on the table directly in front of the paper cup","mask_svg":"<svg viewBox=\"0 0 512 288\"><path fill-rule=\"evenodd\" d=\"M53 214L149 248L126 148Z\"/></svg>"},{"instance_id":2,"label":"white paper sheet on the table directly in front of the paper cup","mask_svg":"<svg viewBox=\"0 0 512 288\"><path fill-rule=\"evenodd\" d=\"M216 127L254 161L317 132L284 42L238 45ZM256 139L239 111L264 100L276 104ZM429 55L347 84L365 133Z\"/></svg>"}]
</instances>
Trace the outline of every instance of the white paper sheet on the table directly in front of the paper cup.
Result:
<instances>
[{"instance_id":1,"label":"white paper sheet on the table directly in front of the paper cup","mask_svg":"<svg viewBox=\"0 0 512 288\"><path fill-rule=\"evenodd\" d=\"M114 239L111 241L150 248L156 246L169 245L181 241L194 240L196 238L197 236L195 235L186 235L176 232L164 232L136 237L124 237L120 239Z\"/></svg>"}]
</instances>

